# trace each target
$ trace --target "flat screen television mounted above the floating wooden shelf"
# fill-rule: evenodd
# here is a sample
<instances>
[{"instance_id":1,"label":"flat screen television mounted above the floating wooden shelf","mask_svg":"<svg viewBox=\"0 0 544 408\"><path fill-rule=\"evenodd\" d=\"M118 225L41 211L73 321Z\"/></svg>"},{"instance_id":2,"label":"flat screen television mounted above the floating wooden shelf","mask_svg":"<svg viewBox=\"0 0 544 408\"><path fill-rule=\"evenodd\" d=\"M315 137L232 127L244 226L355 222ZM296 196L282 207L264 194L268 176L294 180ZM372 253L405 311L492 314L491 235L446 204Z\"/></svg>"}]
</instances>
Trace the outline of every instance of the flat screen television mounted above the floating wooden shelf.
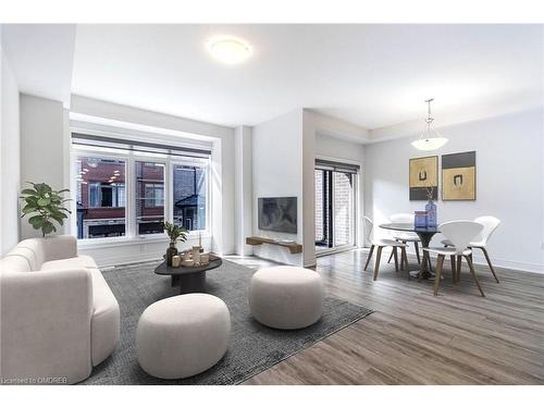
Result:
<instances>
[{"instance_id":1,"label":"flat screen television mounted above the floating wooden shelf","mask_svg":"<svg viewBox=\"0 0 544 408\"><path fill-rule=\"evenodd\" d=\"M259 230L297 233L296 197L260 197Z\"/></svg>"}]
</instances>

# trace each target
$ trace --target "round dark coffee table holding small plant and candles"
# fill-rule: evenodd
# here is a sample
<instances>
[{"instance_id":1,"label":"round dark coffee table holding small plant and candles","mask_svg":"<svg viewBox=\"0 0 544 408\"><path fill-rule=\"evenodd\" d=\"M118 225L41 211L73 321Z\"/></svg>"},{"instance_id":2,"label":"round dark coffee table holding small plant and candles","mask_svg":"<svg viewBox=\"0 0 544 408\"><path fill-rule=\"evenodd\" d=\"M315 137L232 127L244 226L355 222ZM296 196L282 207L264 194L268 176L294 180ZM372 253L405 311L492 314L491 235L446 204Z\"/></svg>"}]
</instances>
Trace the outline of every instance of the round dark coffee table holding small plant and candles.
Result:
<instances>
[{"instance_id":1,"label":"round dark coffee table holding small plant and candles","mask_svg":"<svg viewBox=\"0 0 544 408\"><path fill-rule=\"evenodd\" d=\"M154 269L158 275L171 275L172 286L180 286L180 295L206 293L206 271L221 267L223 261L219 257L210 257L210 263L200 267L172 268L162 262Z\"/></svg>"}]
</instances>

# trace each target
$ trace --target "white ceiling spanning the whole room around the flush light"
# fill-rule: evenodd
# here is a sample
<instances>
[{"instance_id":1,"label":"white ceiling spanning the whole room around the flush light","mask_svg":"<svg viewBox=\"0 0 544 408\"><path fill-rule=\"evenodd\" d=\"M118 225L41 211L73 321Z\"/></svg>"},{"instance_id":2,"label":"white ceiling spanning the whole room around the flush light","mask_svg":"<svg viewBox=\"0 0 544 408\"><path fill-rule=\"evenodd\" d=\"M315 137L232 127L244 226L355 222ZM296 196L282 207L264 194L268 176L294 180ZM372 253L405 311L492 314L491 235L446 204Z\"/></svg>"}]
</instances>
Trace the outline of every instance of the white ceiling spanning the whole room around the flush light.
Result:
<instances>
[{"instance_id":1,"label":"white ceiling spanning the whole room around the flush light","mask_svg":"<svg viewBox=\"0 0 544 408\"><path fill-rule=\"evenodd\" d=\"M542 25L77 25L70 77L70 36L57 55L48 26L22 27L11 49L27 57L25 91L64 89L62 74L72 94L228 126L309 108L382 135L423 119L428 97L438 124L543 101ZM205 42L220 34L254 55L217 62Z\"/></svg>"}]
</instances>

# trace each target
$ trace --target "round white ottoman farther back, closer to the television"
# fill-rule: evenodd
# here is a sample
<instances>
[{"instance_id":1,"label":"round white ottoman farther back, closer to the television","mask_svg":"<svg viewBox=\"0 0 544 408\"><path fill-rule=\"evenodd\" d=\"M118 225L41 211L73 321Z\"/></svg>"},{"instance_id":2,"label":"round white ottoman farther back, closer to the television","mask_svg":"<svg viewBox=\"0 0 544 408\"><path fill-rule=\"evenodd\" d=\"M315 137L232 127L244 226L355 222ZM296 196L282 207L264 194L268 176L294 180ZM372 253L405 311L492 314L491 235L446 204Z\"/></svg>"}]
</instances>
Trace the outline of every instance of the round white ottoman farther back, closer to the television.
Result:
<instances>
[{"instance_id":1,"label":"round white ottoman farther back, closer to the television","mask_svg":"<svg viewBox=\"0 0 544 408\"><path fill-rule=\"evenodd\" d=\"M249 309L255 319L270 327L309 326L323 311L321 276L297 267L260 269L251 277Z\"/></svg>"}]
</instances>

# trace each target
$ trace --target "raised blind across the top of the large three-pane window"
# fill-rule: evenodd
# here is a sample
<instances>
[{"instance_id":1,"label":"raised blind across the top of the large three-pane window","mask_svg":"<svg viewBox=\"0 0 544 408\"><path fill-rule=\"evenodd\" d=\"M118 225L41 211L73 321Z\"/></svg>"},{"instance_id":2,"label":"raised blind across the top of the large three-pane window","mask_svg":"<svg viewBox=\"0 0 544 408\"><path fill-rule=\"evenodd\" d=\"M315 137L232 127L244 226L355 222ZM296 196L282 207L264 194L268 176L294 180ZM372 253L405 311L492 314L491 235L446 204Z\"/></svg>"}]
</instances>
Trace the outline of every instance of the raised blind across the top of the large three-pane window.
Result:
<instances>
[{"instance_id":1,"label":"raised blind across the top of the large three-pane window","mask_svg":"<svg viewBox=\"0 0 544 408\"><path fill-rule=\"evenodd\" d=\"M211 154L211 150L206 148L156 144L143 140L127 140L122 138L82 133L72 133L72 145L203 159L209 158Z\"/></svg>"}]
</instances>

